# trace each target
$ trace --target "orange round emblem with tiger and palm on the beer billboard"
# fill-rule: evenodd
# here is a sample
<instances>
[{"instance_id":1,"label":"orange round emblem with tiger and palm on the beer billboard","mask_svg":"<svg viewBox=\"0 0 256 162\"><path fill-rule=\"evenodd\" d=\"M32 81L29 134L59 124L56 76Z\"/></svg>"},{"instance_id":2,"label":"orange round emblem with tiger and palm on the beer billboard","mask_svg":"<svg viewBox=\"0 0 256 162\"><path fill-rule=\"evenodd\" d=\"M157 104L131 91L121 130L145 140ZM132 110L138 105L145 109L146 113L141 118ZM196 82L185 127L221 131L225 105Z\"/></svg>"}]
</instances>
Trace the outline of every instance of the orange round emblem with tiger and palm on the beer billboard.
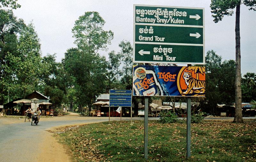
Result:
<instances>
[{"instance_id":1,"label":"orange round emblem with tiger and palm on the beer billboard","mask_svg":"<svg viewBox=\"0 0 256 162\"><path fill-rule=\"evenodd\" d=\"M205 96L205 67L182 67L177 86L182 96Z\"/></svg>"}]
</instances>

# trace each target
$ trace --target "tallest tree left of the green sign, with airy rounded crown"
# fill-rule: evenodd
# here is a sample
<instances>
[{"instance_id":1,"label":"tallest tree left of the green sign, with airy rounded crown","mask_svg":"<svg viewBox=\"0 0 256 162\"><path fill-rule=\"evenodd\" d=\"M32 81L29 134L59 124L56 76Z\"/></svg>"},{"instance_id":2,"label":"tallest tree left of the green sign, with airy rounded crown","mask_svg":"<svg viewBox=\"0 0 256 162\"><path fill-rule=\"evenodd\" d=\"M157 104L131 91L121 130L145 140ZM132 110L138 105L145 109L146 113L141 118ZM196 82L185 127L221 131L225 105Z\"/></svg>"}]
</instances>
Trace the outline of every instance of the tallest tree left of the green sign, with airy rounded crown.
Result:
<instances>
[{"instance_id":1,"label":"tallest tree left of the green sign, with airy rounded crown","mask_svg":"<svg viewBox=\"0 0 256 162\"><path fill-rule=\"evenodd\" d=\"M72 53L73 60L65 60L65 66L75 78L79 108L85 105L90 108L93 99L105 92L107 62L105 57L98 54L98 50L107 50L113 32L104 31L104 24L98 12L85 12L75 21L72 29L77 50Z\"/></svg>"}]
</instances>

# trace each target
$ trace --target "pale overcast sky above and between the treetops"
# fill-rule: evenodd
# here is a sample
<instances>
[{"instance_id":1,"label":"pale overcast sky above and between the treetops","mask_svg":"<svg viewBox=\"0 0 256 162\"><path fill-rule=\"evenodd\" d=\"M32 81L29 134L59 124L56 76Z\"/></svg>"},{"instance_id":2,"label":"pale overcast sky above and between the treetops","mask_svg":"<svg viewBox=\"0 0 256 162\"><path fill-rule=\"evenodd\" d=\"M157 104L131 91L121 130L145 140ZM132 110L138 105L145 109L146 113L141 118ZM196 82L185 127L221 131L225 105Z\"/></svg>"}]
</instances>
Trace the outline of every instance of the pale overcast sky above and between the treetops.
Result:
<instances>
[{"instance_id":1,"label":"pale overcast sky above and between the treetops","mask_svg":"<svg viewBox=\"0 0 256 162\"><path fill-rule=\"evenodd\" d=\"M14 10L15 16L24 19L26 24L31 20L41 40L42 55L57 54L58 62L64 57L68 48L74 44L73 28L79 16L87 11L98 11L106 21L105 30L114 32L114 39L108 45L108 51L100 55L108 58L111 50L119 51L122 40L133 42L133 4L203 7L205 8L205 54L214 50L223 60L235 60L235 14L225 16L215 24L212 20L210 0L18 0L20 9ZM256 72L256 12L241 6L241 70Z\"/></svg>"}]
</instances>

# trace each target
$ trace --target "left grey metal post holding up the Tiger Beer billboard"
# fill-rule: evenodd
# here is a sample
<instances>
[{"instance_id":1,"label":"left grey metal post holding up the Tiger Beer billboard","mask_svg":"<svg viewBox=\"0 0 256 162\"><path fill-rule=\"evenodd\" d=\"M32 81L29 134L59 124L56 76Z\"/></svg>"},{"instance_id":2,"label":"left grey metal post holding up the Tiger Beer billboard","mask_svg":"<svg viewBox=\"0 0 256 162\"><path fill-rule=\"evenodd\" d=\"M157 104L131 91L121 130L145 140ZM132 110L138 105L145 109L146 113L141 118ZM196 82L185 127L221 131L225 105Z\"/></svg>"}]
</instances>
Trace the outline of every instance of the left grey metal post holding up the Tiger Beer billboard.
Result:
<instances>
[{"instance_id":1,"label":"left grey metal post holding up the Tiger Beer billboard","mask_svg":"<svg viewBox=\"0 0 256 162\"><path fill-rule=\"evenodd\" d=\"M148 97L145 97L144 111L144 158L148 159Z\"/></svg>"}]
</instances>

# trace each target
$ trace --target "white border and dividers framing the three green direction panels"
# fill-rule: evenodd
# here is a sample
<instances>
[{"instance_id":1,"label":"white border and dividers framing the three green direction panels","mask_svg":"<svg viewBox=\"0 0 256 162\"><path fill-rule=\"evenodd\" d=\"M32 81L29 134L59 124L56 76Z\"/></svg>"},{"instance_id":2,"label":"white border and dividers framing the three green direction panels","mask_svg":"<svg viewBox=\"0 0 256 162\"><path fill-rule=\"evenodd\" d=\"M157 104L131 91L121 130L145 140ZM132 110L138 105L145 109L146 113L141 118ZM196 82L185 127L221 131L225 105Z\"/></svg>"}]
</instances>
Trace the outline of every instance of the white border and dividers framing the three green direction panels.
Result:
<instances>
[{"instance_id":1,"label":"white border and dividers framing the three green direction panels","mask_svg":"<svg viewBox=\"0 0 256 162\"><path fill-rule=\"evenodd\" d=\"M142 6L142 7L160 7L160 8L179 8L179 9L198 9L198 10L202 10L202 14L203 14L203 25L201 26L197 26L197 25L176 25L176 24L153 24L153 23L136 23L136 6ZM133 4L133 63L173 63L173 64L205 64L205 18L204 18L204 8L199 8L199 7L179 7L179 6L161 6L161 5L144 5L144 4ZM189 43L164 43L164 42L145 42L145 41L136 41L135 42L135 35L136 35L136 32L135 32L135 28L136 28L136 25L150 25L150 26L176 26L176 27L197 27L197 28L203 28L203 44L189 44ZM145 61L145 60L135 60L135 51L136 51L136 44L152 44L152 45L157 45L157 46L161 46L163 44L168 44L168 45L178 45L178 46L181 46L180 48L182 48L182 46L202 46L203 47L203 54L200 54L202 55L202 59L203 61L202 62L192 62L192 61L184 61L184 62L177 62L177 61L163 61L164 59L162 60L153 60L153 55L152 55L152 61ZM145 51L146 52L146 51ZM193 53L195 53L196 51L192 51ZM138 55L138 54L136 54ZM187 54L184 54L184 55L187 55ZM167 60L167 58L166 58Z\"/></svg>"}]
</instances>

